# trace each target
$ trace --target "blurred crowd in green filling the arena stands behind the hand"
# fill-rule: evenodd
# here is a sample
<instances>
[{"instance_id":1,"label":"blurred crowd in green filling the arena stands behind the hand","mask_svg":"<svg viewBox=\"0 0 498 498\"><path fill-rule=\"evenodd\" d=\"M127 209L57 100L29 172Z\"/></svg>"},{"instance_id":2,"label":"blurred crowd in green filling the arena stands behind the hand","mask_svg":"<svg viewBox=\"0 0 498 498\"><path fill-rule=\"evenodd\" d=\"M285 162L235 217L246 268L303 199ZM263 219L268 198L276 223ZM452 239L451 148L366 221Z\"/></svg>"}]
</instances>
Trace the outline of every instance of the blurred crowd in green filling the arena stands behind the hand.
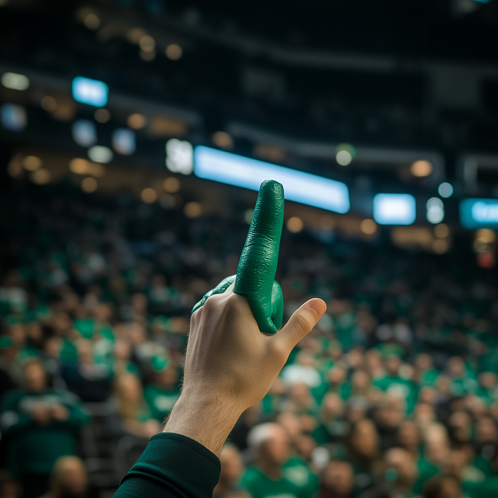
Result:
<instances>
[{"instance_id":1,"label":"blurred crowd in green filling the arena stands behind the hand","mask_svg":"<svg viewBox=\"0 0 498 498\"><path fill-rule=\"evenodd\" d=\"M93 497L89 406L112 438L160 430L190 310L248 225L69 185L0 199L0 498ZM217 498L498 496L498 293L458 254L282 235L284 319L327 313L221 454ZM82 458L83 457L83 458Z\"/></svg>"}]
</instances>

